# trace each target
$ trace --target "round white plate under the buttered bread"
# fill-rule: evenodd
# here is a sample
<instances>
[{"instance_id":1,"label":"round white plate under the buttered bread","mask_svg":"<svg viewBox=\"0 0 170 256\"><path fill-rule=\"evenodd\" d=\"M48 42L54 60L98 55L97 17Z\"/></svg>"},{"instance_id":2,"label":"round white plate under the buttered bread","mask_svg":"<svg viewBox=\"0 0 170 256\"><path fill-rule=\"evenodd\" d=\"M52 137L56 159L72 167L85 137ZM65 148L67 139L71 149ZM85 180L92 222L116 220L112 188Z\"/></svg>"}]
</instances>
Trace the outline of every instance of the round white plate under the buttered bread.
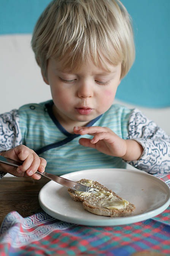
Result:
<instances>
[{"instance_id":1,"label":"round white plate under the buttered bread","mask_svg":"<svg viewBox=\"0 0 170 256\"><path fill-rule=\"evenodd\" d=\"M80 225L111 226L144 221L162 213L170 204L170 189L165 182L144 171L129 169L92 169L62 175L78 181L90 179L100 182L122 198L135 204L128 217L99 216L84 210L81 202L74 201L67 188L54 181L41 188L41 208L59 220Z\"/></svg>"}]
</instances>

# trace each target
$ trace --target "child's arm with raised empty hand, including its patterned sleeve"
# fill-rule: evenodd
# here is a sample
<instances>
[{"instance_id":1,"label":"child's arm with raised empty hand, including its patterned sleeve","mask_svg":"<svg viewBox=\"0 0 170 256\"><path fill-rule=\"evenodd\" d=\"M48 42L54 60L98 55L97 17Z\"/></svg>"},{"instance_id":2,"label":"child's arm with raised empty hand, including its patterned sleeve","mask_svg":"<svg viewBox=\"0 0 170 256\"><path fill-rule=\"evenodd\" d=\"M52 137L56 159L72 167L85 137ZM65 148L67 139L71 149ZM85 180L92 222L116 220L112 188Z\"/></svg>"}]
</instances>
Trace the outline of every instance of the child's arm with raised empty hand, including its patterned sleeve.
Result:
<instances>
[{"instance_id":1,"label":"child's arm with raised empty hand, including its patterned sleeve","mask_svg":"<svg viewBox=\"0 0 170 256\"><path fill-rule=\"evenodd\" d=\"M137 109L130 115L127 140L107 127L75 127L74 132L94 136L92 140L79 140L85 147L120 157L134 167L152 174L170 172L170 138Z\"/></svg>"}]
</instances>

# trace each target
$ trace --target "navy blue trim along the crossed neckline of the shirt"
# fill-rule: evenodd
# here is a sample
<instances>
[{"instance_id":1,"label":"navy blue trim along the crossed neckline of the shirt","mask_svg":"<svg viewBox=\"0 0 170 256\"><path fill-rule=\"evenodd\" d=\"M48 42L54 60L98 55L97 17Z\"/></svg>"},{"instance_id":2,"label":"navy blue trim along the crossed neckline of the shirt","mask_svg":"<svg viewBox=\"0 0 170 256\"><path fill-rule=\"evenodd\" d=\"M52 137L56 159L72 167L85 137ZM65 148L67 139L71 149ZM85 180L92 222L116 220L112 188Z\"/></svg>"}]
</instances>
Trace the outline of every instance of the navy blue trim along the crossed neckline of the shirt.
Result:
<instances>
[{"instance_id":1,"label":"navy blue trim along the crossed neckline of the shirt","mask_svg":"<svg viewBox=\"0 0 170 256\"><path fill-rule=\"evenodd\" d=\"M52 106L53 106L53 101L47 103L45 106L46 106L46 109L47 109L47 112L50 116L50 118L52 119L52 121L54 122L54 124L57 126L57 128L67 136L67 138L65 138L64 140L60 140L59 142L56 142L56 143L52 143L52 144L49 144L49 145L46 145L42 148L39 148L38 150L36 150L35 152L37 153L37 155L40 155L41 153L47 151L47 150L50 150L51 148L57 148L57 147L60 147L68 142L70 142L71 140L73 140L74 138L76 137L79 137L80 135L79 134L71 134L70 132L67 132L67 130L64 129L64 127L62 127L62 125L59 123L59 121L55 118L53 112L52 112ZM89 127L89 126L92 126L95 122L97 122L97 120L99 120L99 118L101 117L102 115L98 116L97 118L93 119L92 121L90 121L86 126Z\"/></svg>"}]
</instances>

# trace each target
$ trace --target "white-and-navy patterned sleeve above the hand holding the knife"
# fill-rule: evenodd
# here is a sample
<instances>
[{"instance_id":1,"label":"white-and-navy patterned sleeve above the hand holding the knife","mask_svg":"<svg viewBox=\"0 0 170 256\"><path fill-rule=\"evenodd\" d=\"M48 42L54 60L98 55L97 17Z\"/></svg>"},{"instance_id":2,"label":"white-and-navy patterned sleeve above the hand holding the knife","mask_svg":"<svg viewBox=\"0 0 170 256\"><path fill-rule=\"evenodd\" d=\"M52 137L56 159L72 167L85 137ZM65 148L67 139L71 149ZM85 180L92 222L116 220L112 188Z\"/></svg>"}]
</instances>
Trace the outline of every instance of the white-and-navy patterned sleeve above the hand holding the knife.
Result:
<instances>
[{"instance_id":1,"label":"white-and-navy patterned sleeve above the hand holding the knife","mask_svg":"<svg viewBox=\"0 0 170 256\"><path fill-rule=\"evenodd\" d=\"M13 109L10 112L0 114L0 151L16 147L21 144L21 141L18 111ZM0 179L5 174L5 172L0 171Z\"/></svg>"}]
</instances>

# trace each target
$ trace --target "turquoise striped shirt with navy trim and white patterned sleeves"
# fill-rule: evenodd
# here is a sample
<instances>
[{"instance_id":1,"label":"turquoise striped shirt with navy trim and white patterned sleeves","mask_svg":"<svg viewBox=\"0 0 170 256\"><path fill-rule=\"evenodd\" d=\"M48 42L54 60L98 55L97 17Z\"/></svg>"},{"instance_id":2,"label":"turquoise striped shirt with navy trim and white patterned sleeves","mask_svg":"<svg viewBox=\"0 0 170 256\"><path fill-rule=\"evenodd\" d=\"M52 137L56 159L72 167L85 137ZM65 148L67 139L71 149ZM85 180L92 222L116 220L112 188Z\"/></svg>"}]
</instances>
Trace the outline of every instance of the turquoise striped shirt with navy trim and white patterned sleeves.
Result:
<instances>
[{"instance_id":1,"label":"turquoise striped shirt with navy trim and white patterned sleeves","mask_svg":"<svg viewBox=\"0 0 170 256\"><path fill-rule=\"evenodd\" d=\"M52 113L53 101L27 104L0 115L0 150L20 144L47 160L46 171L56 175L84 169L126 168L121 158L79 145L79 138L67 132ZM112 105L87 126L103 126L123 139L137 140L144 148L138 161L128 162L149 173L170 172L170 138L138 109Z\"/></svg>"}]
</instances>

